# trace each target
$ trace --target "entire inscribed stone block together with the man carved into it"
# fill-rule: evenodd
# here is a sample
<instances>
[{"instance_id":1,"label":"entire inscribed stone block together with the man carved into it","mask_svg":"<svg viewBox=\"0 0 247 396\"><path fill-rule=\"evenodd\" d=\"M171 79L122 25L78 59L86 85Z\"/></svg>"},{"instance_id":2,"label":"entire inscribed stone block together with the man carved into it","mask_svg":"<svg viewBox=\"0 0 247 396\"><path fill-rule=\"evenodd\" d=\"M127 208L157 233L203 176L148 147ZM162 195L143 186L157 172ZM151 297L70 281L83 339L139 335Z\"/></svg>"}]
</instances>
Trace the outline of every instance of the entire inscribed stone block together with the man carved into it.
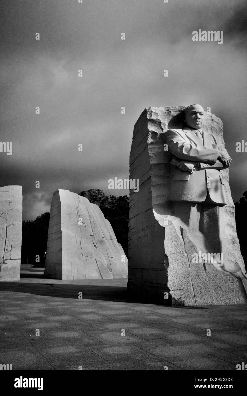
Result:
<instances>
[{"instance_id":1,"label":"entire inscribed stone block together with the man carved into it","mask_svg":"<svg viewBox=\"0 0 247 396\"><path fill-rule=\"evenodd\" d=\"M185 111L184 111L185 110ZM222 121L200 105L151 107L134 126L128 291L176 305L247 303Z\"/></svg>"}]
</instances>

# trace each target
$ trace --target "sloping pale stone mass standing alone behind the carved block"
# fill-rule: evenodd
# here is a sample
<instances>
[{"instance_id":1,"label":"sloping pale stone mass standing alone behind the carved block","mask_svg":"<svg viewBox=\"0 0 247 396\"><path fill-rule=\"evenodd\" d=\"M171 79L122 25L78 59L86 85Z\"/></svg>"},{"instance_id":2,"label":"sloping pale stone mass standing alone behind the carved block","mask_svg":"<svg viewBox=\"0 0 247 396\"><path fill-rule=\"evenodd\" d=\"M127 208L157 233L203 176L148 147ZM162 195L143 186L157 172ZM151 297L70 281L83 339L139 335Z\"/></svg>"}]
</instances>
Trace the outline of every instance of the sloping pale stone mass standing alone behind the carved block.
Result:
<instances>
[{"instance_id":1,"label":"sloping pale stone mass standing alone behind the carved block","mask_svg":"<svg viewBox=\"0 0 247 396\"><path fill-rule=\"evenodd\" d=\"M123 248L100 208L74 192L56 190L45 275L56 279L111 279L127 278L127 274Z\"/></svg>"}]
</instances>

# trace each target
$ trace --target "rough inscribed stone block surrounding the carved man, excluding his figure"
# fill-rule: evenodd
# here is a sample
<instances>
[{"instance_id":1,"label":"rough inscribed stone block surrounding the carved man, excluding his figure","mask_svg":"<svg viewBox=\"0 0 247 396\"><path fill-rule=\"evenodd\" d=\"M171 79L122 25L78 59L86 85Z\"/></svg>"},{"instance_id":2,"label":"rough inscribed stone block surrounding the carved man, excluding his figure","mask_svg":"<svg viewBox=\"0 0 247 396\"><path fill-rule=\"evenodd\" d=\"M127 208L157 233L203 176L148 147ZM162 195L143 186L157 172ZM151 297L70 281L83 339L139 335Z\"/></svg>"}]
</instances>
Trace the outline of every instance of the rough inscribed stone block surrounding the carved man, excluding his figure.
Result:
<instances>
[{"instance_id":1,"label":"rough inscribed stone block surrounding the carved man, excluding his figure","mask_svg":"<svg viewBox=\"0 0 247 396\"><path fill-rule=\"evenodd\" d=\"M139 179L139 192L130 191L128 292L165 305L245 304L247 280L228 169L221 171L228 204L204 219L205 227L211 229L208 240L216 240L223 253L222 267L192 263L193 253L216 252L207 251L207 238L199 232L195 211L189 219L195 221L194 234L188 235L187 203L168 202L171 157L164 151L165 132L182 128L185 107L145 109L134 126L130 179ZM224 145L222 121L214 114L205 114L203 129L218 135Z\"/></svg>"}]
</instances>

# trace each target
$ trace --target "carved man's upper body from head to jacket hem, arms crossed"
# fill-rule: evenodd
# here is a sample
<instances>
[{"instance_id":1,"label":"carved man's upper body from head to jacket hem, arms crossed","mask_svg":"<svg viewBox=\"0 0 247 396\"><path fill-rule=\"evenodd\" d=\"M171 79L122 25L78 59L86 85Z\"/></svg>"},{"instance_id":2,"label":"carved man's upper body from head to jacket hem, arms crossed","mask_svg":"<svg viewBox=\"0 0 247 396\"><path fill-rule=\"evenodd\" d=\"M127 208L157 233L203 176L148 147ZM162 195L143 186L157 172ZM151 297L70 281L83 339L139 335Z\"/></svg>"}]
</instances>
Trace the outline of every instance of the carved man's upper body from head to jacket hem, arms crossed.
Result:
<instances>
[{"instance_id":1,"label":"carved man's upper body from head to jacket hem, arms crossed","mask_svg":"<svg viewBox=\"0 0 247 396\"><path fill-rule=\"evenodd\" d=\"M175 164L172 171L169 201L227 204L220 169L228 168L232 158L217 138L203 130L201 105L184 109L183 129L165 133L168 150Z\"/></svg>"}]
</instances>

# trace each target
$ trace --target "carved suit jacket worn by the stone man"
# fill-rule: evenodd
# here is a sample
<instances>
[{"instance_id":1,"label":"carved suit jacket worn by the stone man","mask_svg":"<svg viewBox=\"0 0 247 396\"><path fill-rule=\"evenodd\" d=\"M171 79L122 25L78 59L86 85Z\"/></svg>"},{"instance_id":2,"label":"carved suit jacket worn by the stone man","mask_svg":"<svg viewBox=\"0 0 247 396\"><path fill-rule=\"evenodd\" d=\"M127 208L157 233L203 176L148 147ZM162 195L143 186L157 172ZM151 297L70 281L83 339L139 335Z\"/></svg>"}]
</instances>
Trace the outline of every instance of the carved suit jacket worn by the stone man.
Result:
<instances>
[{"instance_id":1,"label":"carved suit jacket worn by the stone man","mask_svg":"<svg viewBox=\"0 0 247 396\"><path fill-rule=\"evenodd\" d=\"M227 204L224 181L220 169L225 169L217 160L218 150L224 150L212 133L203 130L203 144L190 128L168 129L165 142L173 157L186 162L199 162L195 173L172 167L169 201L204 202L209 192L211 200L223 206ZM210 182L210 183L209 183Z\"/></svg>"}]
</instances>

